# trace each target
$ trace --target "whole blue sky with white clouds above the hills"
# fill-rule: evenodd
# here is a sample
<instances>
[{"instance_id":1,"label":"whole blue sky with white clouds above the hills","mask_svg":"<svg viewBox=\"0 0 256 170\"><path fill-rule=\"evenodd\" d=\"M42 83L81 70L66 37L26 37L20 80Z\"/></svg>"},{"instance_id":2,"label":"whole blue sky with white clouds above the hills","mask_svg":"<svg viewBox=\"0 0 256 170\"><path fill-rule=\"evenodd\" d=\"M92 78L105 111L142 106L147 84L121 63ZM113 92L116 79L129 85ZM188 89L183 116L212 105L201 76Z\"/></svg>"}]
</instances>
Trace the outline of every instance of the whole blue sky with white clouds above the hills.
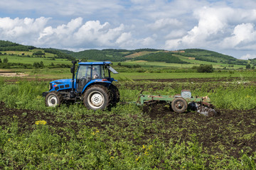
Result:
<instances>
[{"instance_id":1,"label":"whole blue sky with white clouds above the hills","mask_svg":"<svg viewBox=\"0 0 256 170\"><path fill-rule=\"evenodd\" d=\"M0 40L88 49L201 48L256 58L255 0L1 0Z\"/></svg>"}]
</instances>

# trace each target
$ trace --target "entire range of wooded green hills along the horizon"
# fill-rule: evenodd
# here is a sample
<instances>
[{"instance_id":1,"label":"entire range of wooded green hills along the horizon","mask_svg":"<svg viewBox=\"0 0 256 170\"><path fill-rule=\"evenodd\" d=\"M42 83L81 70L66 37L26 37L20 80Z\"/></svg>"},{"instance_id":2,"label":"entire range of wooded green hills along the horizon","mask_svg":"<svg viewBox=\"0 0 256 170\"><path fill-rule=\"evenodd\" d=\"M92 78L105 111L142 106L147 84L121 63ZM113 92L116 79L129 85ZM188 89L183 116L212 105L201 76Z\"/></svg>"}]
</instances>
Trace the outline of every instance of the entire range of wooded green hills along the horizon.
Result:
<instances>
[{"instance_id":1,"label":"entire range of wooded green hills along the horizon","mask_svg":"<svg viewBox=\"0 0 256 170\"><path fill-rule=\"evenodd\" d=\"M0 40L0 52L5 55L18 55L20 57L46 57L63 58L68 60L96 60L124 62L127 60L143 60L147 62L166 62L179 64L200 64L201 62L219 64L238 64L246 65L246 60L238 60L229 55L202 49L185 49L177 51L166 51L156 49L137 49L137 50L84 50L72 52L70 50L58 50L54 48L37 48L27 45L19 45L15 42Z\"/></svg>"}]
</instances>

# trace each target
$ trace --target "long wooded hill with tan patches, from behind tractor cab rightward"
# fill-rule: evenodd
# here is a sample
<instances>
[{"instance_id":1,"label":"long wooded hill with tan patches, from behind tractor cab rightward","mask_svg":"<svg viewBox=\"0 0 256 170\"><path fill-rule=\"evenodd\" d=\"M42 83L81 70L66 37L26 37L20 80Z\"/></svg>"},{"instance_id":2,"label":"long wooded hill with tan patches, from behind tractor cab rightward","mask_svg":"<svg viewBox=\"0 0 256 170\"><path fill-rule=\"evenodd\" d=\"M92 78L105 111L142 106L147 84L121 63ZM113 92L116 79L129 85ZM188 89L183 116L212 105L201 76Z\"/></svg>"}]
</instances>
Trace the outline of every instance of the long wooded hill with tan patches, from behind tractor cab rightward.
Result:
<instances>
[{"instance_id":1,"label":"long wooded hill with tan patches, from behind tractor cab rightward","mask_svg":"<svg viewBox=\"0 0 256 170\"><path fill-rule=\"evenodd\" d=\"M112 62L123 62L127 60L145 60L149 62L166 63L191 63L195 61L214 62L220 64L239 64L245 65L247 61L238 60L229 55L202 49L186 49L178 51L166 51L155 49L138 50L85 50L70 53L77 59L86 60L110 60Z\"/></svg>"}]
</instances>

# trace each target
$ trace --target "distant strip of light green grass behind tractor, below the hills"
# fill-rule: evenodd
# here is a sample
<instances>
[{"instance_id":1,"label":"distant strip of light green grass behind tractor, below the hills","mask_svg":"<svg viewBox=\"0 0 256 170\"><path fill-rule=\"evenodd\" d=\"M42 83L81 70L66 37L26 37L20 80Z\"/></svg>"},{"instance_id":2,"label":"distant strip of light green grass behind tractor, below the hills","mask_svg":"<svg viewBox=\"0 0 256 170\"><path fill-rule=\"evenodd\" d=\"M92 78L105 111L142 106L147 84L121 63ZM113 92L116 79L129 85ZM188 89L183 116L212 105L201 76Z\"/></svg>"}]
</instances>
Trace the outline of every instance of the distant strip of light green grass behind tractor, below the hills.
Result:
<instances>
[{"instance_id":1,"label":"distant strip of light green grass behind tractor, below the hills","mask_svg":"<svg viewBox=\"0 0 256 170\"><path fill-rule=\"evenodd\" d=\"M65 61L63 61L65 63ZM113 66L114 67L114 66ZM69 68L55 68L55 69L1 69L5 72L23 72L28 74L28 78L50 78L50 79L70 79L72 77ZM117 69L118 71L118 69ZM119 81L132 79L198 79L198 78L213 78L223 79L237 77L240 81L247 79L255 79L255 71L243 72L213 72L213 73L197 73L197 72L171 72L171 73L150 73L150 72L119 72L119 74L112 74L114 79ZM26 77L23 77L26 78Z\"/></svg>"}]
</instances>

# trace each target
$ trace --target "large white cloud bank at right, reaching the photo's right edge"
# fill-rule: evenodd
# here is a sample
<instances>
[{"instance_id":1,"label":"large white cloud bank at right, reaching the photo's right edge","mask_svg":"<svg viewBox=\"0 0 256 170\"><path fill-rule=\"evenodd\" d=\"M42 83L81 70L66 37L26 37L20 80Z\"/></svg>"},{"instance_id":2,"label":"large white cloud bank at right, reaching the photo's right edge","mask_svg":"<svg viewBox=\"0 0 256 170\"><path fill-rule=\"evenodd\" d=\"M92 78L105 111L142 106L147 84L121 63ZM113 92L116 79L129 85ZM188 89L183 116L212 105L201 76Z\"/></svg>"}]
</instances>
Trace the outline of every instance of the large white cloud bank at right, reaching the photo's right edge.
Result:
<instances>
[{"instance_id":1,"label":"large white cloud bank at right, reaching the photo's right edge","mask_svg":"<svg viewBox=\"0 0 256 170\"><path fill-rule=\"evenodd\" d=\"M203 7L194 11L198 25L188 30L186 35L175 38L173 32L166 40L167 49L183 47L200 47L210 49L240 49L248 50L256 47L256 32L253 22L256 19L255 10L235 10L230 7ZM237 25L235 25L237 24ZM178 33L178 32L177 32ZM180 33L181 35L181 33Z\"/></svg>"}]
</instances>

